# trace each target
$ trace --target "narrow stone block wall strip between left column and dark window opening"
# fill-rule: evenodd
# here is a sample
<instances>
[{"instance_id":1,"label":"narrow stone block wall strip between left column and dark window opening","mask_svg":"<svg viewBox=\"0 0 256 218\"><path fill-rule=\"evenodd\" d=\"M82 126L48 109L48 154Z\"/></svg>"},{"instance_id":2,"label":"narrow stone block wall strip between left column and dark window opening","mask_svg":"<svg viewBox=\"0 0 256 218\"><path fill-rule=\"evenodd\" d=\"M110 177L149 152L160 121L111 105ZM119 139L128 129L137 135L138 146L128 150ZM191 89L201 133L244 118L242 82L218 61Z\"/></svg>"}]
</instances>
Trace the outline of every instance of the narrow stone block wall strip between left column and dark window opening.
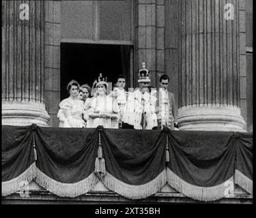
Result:
<instances>
[{"instance_id":1,"label":"narrow stone block wall strip between left column and dark window opening","mask_svg":"<svg viewBox=\"0 0 256 218\"><path fill-rule=\"evenodd\" d=\"M57 112L60 102L61 1L45 1L45 102L51 116L49 125L59 126Z\"/></svg>"}]
</instances>

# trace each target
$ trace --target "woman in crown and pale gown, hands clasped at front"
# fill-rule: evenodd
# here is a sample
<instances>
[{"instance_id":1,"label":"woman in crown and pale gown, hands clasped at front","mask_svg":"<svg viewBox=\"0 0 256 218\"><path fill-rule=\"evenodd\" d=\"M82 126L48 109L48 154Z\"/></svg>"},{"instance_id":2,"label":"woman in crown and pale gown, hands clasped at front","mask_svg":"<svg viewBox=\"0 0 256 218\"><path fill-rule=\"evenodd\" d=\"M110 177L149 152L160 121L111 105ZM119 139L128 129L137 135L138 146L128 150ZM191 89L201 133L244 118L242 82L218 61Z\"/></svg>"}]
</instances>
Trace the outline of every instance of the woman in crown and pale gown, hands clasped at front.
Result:
<instances>
[{"instance_id":1,"label":"woman in crown and pale gown, hands clasped at front","mask_svg":"<svg viewBox=\"0 0 256 218\"><path fill-rule=\"evenodd\" d=\"M119 108L117 101L106 95L106 87L108 87L106 78L100 74L96 84L98 95L91 100L89 112L91 127L102 125L104 128L118 129Z\"/></svg>"}]
</instances>

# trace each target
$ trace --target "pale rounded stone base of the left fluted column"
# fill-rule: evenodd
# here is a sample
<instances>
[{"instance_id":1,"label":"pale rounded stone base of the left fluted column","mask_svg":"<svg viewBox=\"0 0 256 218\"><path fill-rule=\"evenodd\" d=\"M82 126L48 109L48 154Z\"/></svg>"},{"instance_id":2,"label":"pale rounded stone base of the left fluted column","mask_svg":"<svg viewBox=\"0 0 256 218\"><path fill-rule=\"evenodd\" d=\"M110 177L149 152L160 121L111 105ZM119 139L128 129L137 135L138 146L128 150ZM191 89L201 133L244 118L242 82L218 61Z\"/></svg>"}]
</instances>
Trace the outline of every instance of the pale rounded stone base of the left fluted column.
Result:
<instances>
[{"instance_id":1,"label":"pale rounded stone base of the left fluted column","mask_svg":"<svg viewBox=\"0 0 256 218\"><path fill-rule=\"evenodd\" d=\"M25 126L35 123L48 126L50 116L38 102L2 102L2 125Z\"/></svg>"}]
</instances>

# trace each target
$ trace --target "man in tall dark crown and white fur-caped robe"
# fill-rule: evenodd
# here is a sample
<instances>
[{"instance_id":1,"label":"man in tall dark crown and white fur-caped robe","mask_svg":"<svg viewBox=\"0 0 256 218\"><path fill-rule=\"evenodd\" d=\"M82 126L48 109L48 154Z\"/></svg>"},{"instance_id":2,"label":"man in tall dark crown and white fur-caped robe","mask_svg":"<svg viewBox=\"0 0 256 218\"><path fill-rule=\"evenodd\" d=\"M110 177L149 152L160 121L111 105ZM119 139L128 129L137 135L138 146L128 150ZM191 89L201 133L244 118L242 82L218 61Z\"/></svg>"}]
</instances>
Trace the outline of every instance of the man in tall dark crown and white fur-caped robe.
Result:
<instances>
[{"instance_id":1,"label":"man in tall dark crown and white fur-caped robe","mask_svg":"<svg viewBox=\"0 0 256 218\"><path fill-rule=\"evenodd\" d=\"M128 97L124 123L133 125L134 129L153 129L157 127L156 111L152 110L156 105L156 97L149 93L150 71L145 68L139 70L139 89L136 89Z\"/></svg>"}]
</instances>

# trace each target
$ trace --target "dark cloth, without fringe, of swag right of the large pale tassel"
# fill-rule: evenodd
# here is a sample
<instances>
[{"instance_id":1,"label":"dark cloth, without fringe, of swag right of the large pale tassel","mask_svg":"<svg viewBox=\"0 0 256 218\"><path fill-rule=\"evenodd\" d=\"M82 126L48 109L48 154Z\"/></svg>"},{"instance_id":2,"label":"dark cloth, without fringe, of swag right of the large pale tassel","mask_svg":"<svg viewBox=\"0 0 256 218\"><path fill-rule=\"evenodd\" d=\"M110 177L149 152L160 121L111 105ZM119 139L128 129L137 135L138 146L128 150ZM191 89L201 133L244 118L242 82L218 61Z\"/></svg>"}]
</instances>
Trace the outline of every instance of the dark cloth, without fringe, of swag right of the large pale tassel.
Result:
<instances>
[{"instance_id":1,"label":"dark cloth, without fringe, of swag right of the large pale tassel","mask_svg":"<svg viewBox=\"0 0 256 218\"><path fill-rule=\"evenodd\" d=\"M165 134L160 130L104 129L106 171L119 181L142 185L165 170Z\"/></svg>"}]
</instances>

